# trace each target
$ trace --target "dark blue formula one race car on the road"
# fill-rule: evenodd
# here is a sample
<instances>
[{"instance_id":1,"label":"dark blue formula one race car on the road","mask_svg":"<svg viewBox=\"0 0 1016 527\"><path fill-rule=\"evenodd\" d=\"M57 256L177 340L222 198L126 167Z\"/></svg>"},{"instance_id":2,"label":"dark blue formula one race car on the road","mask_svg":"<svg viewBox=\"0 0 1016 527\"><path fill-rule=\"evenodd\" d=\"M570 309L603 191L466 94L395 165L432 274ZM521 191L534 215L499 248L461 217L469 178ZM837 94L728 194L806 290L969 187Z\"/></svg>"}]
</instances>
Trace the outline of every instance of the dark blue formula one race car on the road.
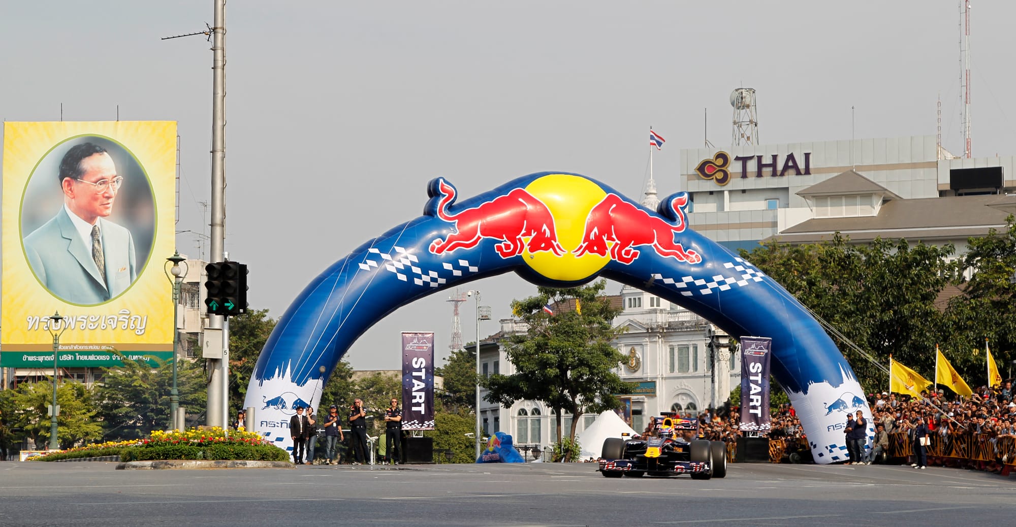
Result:
<instances>
[{"instance_id":1,"label":"dark blue formula one race car on the road","mask_svg":"<svg viewBox=\"0 0 1016 527\"><path fill-rule=\"evenodd\" d=\"M605 477L691 474L692 479L709 479L726 475L726 446L721 441L695 439L697 420L664 413L655 418L655 438L608 438L599 472Z\"/></svg>"}]
</instances>

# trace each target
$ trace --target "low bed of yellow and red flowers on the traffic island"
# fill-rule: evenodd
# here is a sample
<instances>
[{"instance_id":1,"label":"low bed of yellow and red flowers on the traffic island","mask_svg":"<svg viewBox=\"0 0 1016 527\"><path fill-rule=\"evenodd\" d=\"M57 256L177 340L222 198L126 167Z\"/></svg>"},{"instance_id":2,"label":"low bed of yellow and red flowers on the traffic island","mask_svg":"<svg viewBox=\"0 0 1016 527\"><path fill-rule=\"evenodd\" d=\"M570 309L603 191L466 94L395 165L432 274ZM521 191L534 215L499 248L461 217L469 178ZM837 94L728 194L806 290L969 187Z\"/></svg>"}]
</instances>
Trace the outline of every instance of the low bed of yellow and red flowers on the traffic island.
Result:
<instances>
[{"instance_id":1,"label":"low bed of yellow and red flowers on the traffic island","mask_svg":"<svg viewBox=\"0 0 1016 527\"><path fill-rule=\"evenodd\" d=\"M261 439L253 432L231 432L229 438L221 429L191 429L151 433L151 437L135 440L107 442L100 445L77 447L35 458L38 461L99 456L120 456L121 461L147 461L164 459L209 459L288 461L290 455Z\"/></svg>"}]
</instances>

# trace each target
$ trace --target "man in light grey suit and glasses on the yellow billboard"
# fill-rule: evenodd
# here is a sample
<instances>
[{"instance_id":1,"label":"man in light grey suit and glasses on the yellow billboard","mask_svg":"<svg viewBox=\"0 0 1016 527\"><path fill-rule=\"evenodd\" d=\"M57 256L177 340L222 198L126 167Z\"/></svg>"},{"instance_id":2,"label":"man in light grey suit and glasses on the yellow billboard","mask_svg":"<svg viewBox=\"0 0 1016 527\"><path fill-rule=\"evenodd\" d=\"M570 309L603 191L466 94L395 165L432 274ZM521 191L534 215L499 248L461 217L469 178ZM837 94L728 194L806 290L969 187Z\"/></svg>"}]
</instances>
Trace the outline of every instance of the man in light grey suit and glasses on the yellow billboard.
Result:
<instances>
[{"instance_id":1,"label":"man in light grey suit and glasses on the yellow billboard","mask_svg":"<svg viewBox=\"0 0 1016 527\"><path fill-rule=\"evenodd\" d=\"M124 179L106 149L90 142L67 150L58 177L63 207L24 238L28 264L56 297L102 304L137 277L130 230L107 219Z\"/></svg>"}]
</instances>

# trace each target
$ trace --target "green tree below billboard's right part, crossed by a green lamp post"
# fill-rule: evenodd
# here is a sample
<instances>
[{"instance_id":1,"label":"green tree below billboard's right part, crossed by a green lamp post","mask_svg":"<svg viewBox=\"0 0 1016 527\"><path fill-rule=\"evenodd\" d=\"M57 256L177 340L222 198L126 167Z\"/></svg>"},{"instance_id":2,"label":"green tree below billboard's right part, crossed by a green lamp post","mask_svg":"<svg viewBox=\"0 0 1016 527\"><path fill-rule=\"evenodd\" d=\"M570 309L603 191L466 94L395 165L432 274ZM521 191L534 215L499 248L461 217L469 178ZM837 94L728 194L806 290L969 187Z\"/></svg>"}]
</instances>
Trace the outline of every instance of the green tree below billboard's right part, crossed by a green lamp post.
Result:
<instances>
[{"instance_id":1,"label":"green tree below billboard's right part, crossed by a green lamp post","mask_svg":"<svg viewBox=\"0 0 1016 527\"><path fill-rule=\"evenodd\" d=\"M136 439L153 430L166 430L170 422L170 391L173 366L155 359L157 368L121 354L123 367L106 368L105 379L96 394L98 417L104 437ZM189 413L205 409L207 390L200 366L187 359L177 361L177 388L180 406Z\"/></svg>"}]
</instances>

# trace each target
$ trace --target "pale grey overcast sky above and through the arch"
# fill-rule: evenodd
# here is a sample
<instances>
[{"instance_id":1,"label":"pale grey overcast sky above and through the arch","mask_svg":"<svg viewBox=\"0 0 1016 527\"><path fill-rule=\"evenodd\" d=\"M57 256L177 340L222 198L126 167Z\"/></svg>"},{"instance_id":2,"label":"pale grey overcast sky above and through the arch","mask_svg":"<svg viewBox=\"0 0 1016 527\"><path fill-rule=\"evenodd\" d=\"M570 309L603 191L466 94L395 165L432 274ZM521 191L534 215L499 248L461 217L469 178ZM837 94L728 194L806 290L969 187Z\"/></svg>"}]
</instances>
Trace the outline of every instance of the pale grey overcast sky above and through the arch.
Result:
<instances>
[{"instance_id":1,"label":"pale grey overcast sky above and through the arch","mask_svg":"<svg viewBox=\"0 0 1016 527\"><path fill-rule=\"evenodd\" d=\"M207 234L212 0L0 0L0 118L179 122L178 230ZM974 156L1016 153L1016 4L971 10ZM227 6L227 240L249 301L278 317L369 238L418 216L444 176L462 198L533 172L584 174L636 197L648 172L681 189L679 150L731 142L731 90L754 87L764 143L855 136L960 139L959 2L278 2ZM3 211L4 221L11 219ZM178 237L198 257L197 237ZM207 245L205 244L205 255ZM169 256L169 255L166 255ZM535 291L514 274L474 284L494 318ZM611 285L611 292L620 286ZM434 330L442 291L379 322L357 369L399 368L398 332ZM474 303L463 340L475 338ZM484 323L482 333L498 330Z\"/></svg>"}]
</instances>

